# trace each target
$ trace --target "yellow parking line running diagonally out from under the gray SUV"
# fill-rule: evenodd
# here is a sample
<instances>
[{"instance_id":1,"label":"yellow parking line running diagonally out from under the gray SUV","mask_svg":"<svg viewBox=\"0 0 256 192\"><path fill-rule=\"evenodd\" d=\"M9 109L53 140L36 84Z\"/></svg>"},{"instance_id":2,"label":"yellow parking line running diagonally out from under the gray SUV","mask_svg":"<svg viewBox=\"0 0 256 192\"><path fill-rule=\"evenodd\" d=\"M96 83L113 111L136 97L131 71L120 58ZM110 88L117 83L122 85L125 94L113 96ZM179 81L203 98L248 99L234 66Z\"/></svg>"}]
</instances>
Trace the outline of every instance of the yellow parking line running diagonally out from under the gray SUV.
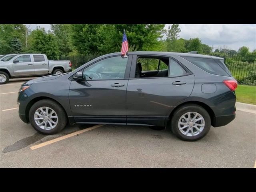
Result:
<instances>
[{"instance_id":1,"label":"yellow parking line running diagonally out from under the gray SUV","mask_svg":"<svg viewBox=\"0 0 256 192\"><path fill-rule=\"evenodd\" d=\"M50 140L50 141L46 141L46 142L40 143L40 144L38 144L38 145L34 145L34 146L30 147L30 149L31 149L31 150L38 149L38 148L40 148L40 147L43 147L43 146L46 146L46 145L49 145L49 144L52 144L52 143L55 143L55 142L64 140L64 139L66 139L66 138L69 138L69 137L72 137L72 136L81 134L81 133L86 132L86 131L90 131L90 130L92 130L92 129L95 129L95 128L98 128L98 127L101 127L101 126L103 126L103 125L95 125L95 126L86 128L86 129L84 129L84 130L76 131L76 132L74 132L74 133L70 133L70 134L67 134L67 135L65 135L65 136L58 137L58 138L56 138L56 139L53 139L53 140Z\"/></svg>"}]
</instances>

